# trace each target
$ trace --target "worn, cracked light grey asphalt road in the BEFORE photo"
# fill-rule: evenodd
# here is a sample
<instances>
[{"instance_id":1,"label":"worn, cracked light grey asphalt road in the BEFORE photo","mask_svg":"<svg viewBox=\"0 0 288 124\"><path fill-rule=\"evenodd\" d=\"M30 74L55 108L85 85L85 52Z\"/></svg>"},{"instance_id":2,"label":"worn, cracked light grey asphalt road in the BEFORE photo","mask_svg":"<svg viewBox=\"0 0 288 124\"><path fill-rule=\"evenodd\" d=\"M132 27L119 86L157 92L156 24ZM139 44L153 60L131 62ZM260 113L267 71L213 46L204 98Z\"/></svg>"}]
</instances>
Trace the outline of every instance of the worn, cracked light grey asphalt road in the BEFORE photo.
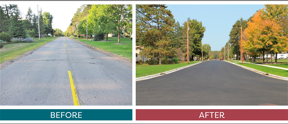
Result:
<instances>
[{"instance_id":1,"label":"worn, cracked light grey asphalt road in the BEFORE photo","mask_svg":"<svg viewBox=\"0 0 288 124\"><path fill-rule=\"evenodd\" d=\"M74 105L68 71L79 105L132 105L132 68L64 37L0 70L0 105Z\"/></svg>"}]
</instances>

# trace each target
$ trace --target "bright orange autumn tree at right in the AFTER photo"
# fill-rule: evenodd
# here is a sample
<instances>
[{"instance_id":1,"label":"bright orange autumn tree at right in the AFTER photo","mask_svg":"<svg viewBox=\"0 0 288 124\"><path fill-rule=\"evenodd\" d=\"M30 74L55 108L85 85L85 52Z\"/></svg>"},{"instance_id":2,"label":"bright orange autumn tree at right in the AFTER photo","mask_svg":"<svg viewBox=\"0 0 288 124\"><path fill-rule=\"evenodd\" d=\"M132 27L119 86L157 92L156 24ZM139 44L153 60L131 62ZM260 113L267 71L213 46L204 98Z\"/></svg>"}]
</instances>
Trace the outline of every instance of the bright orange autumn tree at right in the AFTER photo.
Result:
<instances>
[{"instance_id":1,"label":"bright orange autumn tree at right in the AFTER photo","mask_svg":"<svg viewBox=\"0 0 288 124\"><path fill-rule=\"evenodd\" d=\"M263 56L266 51L273 54L287 49L287 36L283 35L281 25L265 18L262 12L263 9L260 9L251 18L253 22L247 22L248 27L244 33L244 49L250 53L262 53Z\"/></svg>"}]
</instances>

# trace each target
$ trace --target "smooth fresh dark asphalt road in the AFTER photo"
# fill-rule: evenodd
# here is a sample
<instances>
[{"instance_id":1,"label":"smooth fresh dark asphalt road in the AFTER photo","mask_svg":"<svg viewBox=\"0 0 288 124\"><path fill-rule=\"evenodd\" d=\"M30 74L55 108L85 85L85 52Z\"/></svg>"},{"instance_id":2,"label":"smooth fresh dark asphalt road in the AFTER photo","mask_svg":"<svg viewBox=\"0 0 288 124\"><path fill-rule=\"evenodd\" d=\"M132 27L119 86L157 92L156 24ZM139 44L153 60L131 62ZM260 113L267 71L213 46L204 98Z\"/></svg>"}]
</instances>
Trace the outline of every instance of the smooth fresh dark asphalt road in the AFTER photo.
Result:
<instances>
[{"instance_id":1,"label":"smooth fresh dark asphalt road in the AFTER photo","mask_svg":"<svg viewBox=\"0 0 288 124\"><path fill-rule=\"evenodd\" d=\"M288 105L288 81L225 61L204 61L136 81L136 105Z\"/></svg>"}]
</instances>

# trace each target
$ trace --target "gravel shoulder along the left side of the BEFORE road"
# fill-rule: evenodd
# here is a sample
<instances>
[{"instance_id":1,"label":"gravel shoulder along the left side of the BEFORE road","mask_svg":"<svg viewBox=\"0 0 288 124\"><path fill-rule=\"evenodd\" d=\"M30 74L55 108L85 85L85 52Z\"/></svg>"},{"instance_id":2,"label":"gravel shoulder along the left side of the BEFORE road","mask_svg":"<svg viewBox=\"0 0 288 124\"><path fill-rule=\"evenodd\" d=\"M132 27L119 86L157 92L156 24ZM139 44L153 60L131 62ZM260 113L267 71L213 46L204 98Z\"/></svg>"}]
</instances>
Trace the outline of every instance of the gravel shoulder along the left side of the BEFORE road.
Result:
<instances>
[{"instance_id":1,"label":"gravel shoulder along the left side of the BEFORE road","mask_svg":"<svg viewBox=\"0 0 288 124\"><path fill-rule=\"evenodd\" d=\"M55 39L53 39L53 40L51 40L51 41L48 41L47 43L45 43L45 44L43 44L43 45L41 45L41 46L39 46L39 47L37 47L37 48L35 48L35 49L32 49L32 50L30 50L30 51L26 51L25 53L23 53L23 54L21 54L21 55L19 55L19 56L15 56L14 58L12 58L12 59L10 59L10 60L3 61L3 62L0 64L0 70L6 68L6 67L9 66L10 64L18 61L20 58L23 58L23 57L25 57L25 56L28 56L28 55L32 54L32 53L33 53L34 51L36 51L37 49L45 46L46 44L48 44L48 43L50 43L50 42L52 42L52 41L54 41L54 40L55 40Z\"/></svg>"}]
</instances>

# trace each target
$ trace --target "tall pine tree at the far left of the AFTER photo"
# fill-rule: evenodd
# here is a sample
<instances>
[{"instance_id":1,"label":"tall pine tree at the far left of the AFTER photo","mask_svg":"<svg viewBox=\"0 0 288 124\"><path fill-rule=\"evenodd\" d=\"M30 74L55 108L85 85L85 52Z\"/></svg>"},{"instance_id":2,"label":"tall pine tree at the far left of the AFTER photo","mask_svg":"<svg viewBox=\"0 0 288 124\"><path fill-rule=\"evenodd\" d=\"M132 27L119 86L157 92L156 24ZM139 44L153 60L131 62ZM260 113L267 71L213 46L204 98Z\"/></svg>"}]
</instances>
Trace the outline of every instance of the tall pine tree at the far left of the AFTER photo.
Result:
<instances>
[{"instance_id":1,"label":"tall pine tree at the far left of the AFTER photo","mask_svg":"<svg viewBox=\"0 0 288 124\"><path fill-rule=\"evenodd\" d=\"M144 45L145 49L149 47L151 50L146 51L146 55L150 55L153 58L157 57L159 64L162 64L163 56L176 56L175 48L171 47L173 36L168 34L174 31L175 19L171 11L166 8L167 6L165 5L137 5L137 10L139 9L145 14L145 16L139 14L141 20L157 28L155 29L145 22L139 21L140 23L137 23L137 26L139 26L137 27L137 32L142 32L142 36L145 37L140 38L138 43ZM167 33L163 33L161 30Z\"/></svg>"}]
</instances>

